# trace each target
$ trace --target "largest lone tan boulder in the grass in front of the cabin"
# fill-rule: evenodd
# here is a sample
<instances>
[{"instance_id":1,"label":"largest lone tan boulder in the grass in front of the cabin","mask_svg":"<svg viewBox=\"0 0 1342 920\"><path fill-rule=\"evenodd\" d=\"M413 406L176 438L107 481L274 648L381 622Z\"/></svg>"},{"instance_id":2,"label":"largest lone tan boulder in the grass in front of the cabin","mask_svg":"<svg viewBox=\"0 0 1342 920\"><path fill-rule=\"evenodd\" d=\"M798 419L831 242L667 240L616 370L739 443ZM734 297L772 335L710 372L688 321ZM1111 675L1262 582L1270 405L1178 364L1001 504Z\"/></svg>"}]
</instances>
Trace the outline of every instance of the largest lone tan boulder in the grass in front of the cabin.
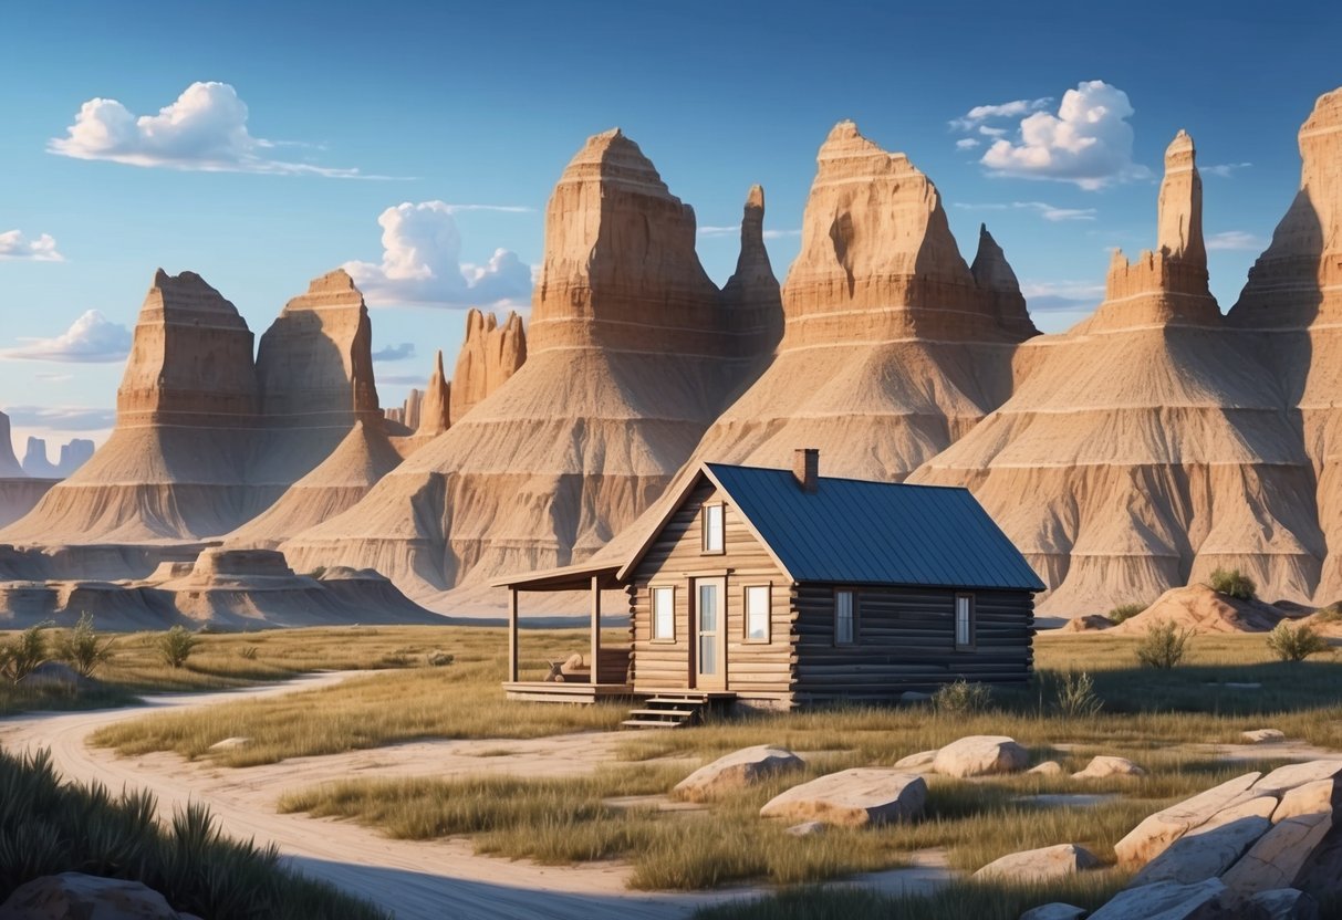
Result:
<instances>
[{"instance_id":1,"label":"largest lone tan boulder in the grass in front of the cabin","mask_svg":"<svg viewBox=\"0 0 1342 920\"><path fill-rule=\"evenodd\" d=\"M922 777L884 767L856 767L793 786L766 802L760 817L860 827L911 821L922 814L926 798L927 783Z\"/></svg>"}]
</instances>

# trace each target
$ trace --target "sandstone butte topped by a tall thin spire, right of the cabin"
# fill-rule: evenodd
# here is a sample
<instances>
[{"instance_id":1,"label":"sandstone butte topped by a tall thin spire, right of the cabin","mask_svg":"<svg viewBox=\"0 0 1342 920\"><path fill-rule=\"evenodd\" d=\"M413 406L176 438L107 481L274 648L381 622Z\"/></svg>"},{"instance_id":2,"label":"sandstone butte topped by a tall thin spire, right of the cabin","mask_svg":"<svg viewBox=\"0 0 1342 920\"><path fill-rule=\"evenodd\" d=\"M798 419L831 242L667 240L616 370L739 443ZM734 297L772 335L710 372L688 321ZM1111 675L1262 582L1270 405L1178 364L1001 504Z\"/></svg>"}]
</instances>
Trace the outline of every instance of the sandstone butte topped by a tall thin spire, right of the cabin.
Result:
<instances>
[{"instance_id":1,"label":"sandstone butte topped by a tall thin spire, right of the cabin","mask_svg":"<svg viewBox=\"0 0 1342 920\"><path fill-rule=\"evenodd\" d=\"M1165 154L1157 248L1115 252L1106 298L1025 343L1028 376L911 481L969 485L1049 587L1043 614L1147 603L1240 569L1307 599L1312 469L1261 362L1208 291L1192 138Z\"/></svg>"}]
</instances>

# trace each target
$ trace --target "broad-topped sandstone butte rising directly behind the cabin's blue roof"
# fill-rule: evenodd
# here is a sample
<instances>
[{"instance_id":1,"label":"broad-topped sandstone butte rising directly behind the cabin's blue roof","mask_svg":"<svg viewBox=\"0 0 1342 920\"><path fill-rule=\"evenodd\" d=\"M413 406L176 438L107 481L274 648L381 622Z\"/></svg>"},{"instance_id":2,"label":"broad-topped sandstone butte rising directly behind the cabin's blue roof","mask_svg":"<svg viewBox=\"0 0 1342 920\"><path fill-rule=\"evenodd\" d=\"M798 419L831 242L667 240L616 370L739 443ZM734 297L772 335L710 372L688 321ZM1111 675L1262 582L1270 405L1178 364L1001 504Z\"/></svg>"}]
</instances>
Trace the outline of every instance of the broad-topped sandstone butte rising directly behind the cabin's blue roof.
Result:
<instances>
[{"instance_id":1,"label":"broad-topped sandstone butte rising directly behind the cabin's blue roof","mask_svg":"<svg viewBox=\"0 0 1342 920\"><path fill-rule=\"evenodd\" d=\"M832 475L899 480L1011 394L1036 330L1001 249L982 240L972 272L907 157L840 122L817 165L777 358L695 456L784 467L815 444Z\"/></svg>"}]
</instances>

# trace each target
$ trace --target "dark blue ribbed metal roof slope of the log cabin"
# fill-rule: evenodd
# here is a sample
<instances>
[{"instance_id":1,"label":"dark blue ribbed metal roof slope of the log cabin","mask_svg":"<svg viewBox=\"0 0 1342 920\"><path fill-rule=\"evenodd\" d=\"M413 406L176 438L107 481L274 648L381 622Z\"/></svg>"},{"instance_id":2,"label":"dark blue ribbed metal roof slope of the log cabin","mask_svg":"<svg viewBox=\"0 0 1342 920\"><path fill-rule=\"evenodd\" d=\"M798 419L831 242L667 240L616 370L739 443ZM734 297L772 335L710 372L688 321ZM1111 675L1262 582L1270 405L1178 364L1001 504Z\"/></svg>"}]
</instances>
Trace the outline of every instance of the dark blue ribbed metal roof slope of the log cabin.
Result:
<instances>
[{"instance_id":1,"label":"dark blue ribbed metal roof slope of the log cabin","mask_svg":"<svg viewBox=\"0 0 1342 920\"><path fill-rule=\"evenodd\" d=\"M1044 590L969 490L705 468L798 582Z\"/></svg>"}]
</instances>

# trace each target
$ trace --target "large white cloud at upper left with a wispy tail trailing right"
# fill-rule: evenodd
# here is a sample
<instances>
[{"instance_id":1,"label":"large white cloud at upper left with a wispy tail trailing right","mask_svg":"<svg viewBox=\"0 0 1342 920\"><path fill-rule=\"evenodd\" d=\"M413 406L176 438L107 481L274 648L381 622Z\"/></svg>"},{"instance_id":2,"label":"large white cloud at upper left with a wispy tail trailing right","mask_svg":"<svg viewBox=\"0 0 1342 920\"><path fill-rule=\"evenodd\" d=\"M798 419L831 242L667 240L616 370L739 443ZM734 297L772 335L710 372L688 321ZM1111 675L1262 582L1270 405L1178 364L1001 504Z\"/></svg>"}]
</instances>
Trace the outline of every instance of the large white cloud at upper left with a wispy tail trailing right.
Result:
<instances>
[{"instance_id":1,"label":"large white cloud at upper left with a wispy tail trailing right","mask_svg":"<svg viewBox=\"0 0 1342 920\"><path fill-rule=\"evenodd\" d=\"M66 137L52 138L47 150L75 160L106 160L132 166L325 176L327 178L385 178L357 169L334 169L276 160L278 146L302 146L254 137L247 129L247 105L228 83L192 83L157 115L136 115L115 99L89 99L79 107Z\"/></svg>"}]
</instances>

